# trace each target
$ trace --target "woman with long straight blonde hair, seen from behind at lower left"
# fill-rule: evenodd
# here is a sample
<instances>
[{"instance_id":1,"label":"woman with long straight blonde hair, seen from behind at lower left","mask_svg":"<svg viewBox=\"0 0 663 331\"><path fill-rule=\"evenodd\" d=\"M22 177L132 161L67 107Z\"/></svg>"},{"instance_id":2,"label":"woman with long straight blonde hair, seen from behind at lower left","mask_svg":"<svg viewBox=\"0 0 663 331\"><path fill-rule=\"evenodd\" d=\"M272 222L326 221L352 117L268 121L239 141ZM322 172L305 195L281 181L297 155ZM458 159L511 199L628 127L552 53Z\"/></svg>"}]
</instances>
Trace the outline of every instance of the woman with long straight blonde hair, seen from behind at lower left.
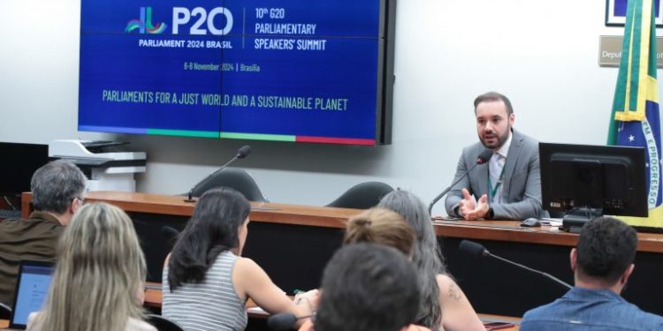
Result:
<instances>
[{"instance_id":1,"label":"woman with long straight blonde hair, seen from behind at lower left","mask_svg":"<svg viewBox=\"0 0 663 331\"><path fill-rule=\"evenodd\" d=\"M42 312L28 330L156 331L142 320L145 257L133 223L118 207L81 207L57 245Z\"/></svg>"}]
</instances>

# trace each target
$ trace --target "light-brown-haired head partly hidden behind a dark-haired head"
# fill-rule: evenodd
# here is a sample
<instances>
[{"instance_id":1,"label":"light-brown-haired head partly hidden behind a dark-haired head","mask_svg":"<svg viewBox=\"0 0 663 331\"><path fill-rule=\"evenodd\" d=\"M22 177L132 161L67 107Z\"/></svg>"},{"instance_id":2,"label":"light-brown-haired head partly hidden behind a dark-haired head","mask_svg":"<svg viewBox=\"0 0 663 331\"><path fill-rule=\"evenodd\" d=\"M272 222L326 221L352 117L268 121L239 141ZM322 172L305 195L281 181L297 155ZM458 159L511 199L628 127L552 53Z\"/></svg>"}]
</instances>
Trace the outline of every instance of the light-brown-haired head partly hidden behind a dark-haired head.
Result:
<instances>
[{"instance_id":1,"label":"light-brown-haired head partly hidden behind a dark-haired head","mask_svg":"<svg viewBox=\"0 0 663 331\"><path fill-rule=\"evenodd\" d=\"M415 240L415 231L400 214L385 208L370 208L350 218L343 243L384 244L410 257Z\"/></svg>"}]
</instances>

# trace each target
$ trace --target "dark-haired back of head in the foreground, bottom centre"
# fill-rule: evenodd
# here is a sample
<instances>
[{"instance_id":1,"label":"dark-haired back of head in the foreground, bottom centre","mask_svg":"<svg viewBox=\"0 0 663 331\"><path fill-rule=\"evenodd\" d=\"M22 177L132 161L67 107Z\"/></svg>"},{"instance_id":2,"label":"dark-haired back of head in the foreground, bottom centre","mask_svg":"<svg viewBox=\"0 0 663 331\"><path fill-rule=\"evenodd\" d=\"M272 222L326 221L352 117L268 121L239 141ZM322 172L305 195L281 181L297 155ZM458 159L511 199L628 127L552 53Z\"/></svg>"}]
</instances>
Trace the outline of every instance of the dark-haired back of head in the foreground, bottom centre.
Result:
<instances>
[{"instance_id":1,"label":"dark-haired back of head in the foreground, bottom centre","mask_svg":"<svg viewBox=\"0 0 663 331\"><path fill-rule=\"evenodd\" d=\"M379 244L348 244L324 268L316 331L396 331L416 318L420 290L405 254Z\"/></svg>"}]
</instances>

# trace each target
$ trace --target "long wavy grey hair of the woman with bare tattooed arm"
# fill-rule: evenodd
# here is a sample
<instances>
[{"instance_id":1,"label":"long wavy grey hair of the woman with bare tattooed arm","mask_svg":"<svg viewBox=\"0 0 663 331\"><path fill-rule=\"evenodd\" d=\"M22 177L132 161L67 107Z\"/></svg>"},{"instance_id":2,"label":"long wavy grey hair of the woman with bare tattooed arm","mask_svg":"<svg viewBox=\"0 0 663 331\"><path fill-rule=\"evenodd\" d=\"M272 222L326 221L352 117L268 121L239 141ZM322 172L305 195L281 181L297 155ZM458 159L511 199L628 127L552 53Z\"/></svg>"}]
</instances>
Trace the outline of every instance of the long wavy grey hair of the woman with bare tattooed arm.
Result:
<instances>
[{"instance_id":1,"label":"long wavy grey hair of the woman with bare tattooed arm","mask_svg":"<svg viewBox=\"0 0 663 331\"><path fill-rule=\"evenodd\" d=\"M419 271L422 286L421 312L416 324L436 327L442 320L438 298L438 274L446 274L444 260L440 255L438 237L431 222L431 214L423 201L408 191L394 191L380 200L383 207L400 214L415 230L415 250L412 262Z\"/></svg>"}]
</instances>

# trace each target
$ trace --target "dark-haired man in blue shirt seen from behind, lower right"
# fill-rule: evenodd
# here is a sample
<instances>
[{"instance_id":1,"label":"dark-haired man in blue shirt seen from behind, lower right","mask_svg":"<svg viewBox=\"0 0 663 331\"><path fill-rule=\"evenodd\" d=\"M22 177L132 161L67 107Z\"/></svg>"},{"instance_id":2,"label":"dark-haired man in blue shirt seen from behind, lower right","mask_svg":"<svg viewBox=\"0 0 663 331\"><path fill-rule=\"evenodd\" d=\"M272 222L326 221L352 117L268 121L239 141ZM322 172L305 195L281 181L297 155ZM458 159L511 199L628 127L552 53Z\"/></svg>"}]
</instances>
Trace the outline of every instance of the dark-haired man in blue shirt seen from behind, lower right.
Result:
<instances>
[{"instance_id":1,"label":"dark-haired man in blue shirt seen from behind, lower right","mask_svg":"<svg viewBox=\"0 0 663 331\"><path fill-rule=\"evenodd\" d=\"M612 217L588 222L571 250L575 287L525 313L521 331L663 330L663 317L620 296L633 273L636 230Z\"/></svg>"}]
</instances>

